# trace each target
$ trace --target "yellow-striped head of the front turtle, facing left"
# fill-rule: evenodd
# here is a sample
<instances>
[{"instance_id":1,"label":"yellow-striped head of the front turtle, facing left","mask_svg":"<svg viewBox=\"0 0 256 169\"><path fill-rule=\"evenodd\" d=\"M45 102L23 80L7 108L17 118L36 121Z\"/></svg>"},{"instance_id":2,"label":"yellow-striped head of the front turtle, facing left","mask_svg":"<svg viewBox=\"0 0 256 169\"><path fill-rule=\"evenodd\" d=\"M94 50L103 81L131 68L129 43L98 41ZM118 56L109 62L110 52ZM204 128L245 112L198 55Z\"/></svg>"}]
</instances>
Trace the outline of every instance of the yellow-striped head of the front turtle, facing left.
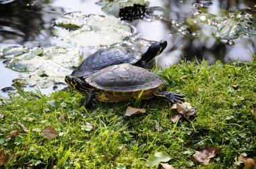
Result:
<instances>
[{"instance_id":1,"label":"yellow-striped head of the front turtle, facing left","mask_svg":"<svg viewBox=\"0 0 256 169\"><path fill-rule=\"evenodd\" d=\"M69 87L82 95L88 94L88 91L92 89L90 84L76 76L67 75L65 77L65 82L69 85Z\"/></svg>"}]
</instances>

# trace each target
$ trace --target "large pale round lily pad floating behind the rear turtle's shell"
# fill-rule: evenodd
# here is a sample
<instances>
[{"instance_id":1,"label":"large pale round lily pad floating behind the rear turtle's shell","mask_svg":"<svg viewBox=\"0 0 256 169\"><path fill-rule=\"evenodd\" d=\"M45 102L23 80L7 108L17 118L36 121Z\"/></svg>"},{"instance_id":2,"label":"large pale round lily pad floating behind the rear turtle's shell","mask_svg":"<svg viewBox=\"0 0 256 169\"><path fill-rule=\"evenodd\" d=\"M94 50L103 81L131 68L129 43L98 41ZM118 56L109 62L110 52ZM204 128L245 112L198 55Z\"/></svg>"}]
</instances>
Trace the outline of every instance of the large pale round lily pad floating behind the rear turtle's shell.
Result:
<instances>
[{"instance_id":1,"label":"large pale round lily pad floating behind the rear turtle's shell","mask_svg":"<svg viewBox=\"0 0 256 169\"><path fill-rule=\"evenodd\" d=\"M55 21L53 34L78 46L110 46L128 39L133 27L113 16L67 13ZM70 29L72 27L72 29Z\"/></svg>"}]
</instances>

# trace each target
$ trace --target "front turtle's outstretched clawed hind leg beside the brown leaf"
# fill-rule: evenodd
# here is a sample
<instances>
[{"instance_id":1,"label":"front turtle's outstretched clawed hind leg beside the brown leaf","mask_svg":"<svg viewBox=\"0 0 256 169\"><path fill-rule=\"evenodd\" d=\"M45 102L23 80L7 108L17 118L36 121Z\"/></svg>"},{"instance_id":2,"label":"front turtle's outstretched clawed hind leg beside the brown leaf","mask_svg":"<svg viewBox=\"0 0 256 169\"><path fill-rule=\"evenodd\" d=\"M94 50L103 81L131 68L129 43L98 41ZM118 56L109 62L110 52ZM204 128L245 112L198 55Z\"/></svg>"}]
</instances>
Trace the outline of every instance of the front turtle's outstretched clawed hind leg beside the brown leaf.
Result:
<instances>
[{"instance_id":1,"label":"front turtle's outstretched clawed hind leg beside the brown leaf","mask_svg":"<svg viewBox=\"0 0 256 169\"><path fill-rule=\"evenodd\" d=\"M166 101L170 102L170 103L181 103L182 101L184 102L184 96L179 94L179 93L172 93L172 92L168 92L168 91L158 91L156 93L157 97L162 97L162 99L165 99Z\"/></svg>"}]
</instances>

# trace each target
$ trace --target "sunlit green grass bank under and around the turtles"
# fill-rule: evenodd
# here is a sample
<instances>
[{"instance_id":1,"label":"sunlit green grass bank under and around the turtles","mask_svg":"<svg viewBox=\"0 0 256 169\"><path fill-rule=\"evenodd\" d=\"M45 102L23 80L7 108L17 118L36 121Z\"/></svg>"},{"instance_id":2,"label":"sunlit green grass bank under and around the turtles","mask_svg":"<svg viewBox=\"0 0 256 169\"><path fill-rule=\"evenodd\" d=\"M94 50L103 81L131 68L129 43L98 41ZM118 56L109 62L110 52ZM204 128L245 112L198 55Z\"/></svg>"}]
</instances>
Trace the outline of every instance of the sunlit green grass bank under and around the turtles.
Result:
<instances>
[{"instance_id":1,"label":"sunlit green grass bank under and around the turtles","mask_svg":"<svg viewBox=\"0 0 256 169\"><path fill-rule=\"evenodd\" d=\"M170 103L160 99L95 101L93 109L84 109L84 97L73 91L46 97L20 89L21 96L1 101L0 113L5 118L0 119L0 149L7 156L15 153L2 167L146 168L150 154L166 152L171 158L168 164L175 168L232 168L234 158L242 153L256 158L255 74L256 62L212 66L183 62L162 70L167 90L184 94L197 107L189 121L182 118L177 123L170 121ZM144 108L146 115L125 117L127 106ZM59 121L64 114L67 118ZM22 131L13 121L29 131ZM92 130L86 131L86 122L94 123ZM46 139L40 131L47 125L60 136ZM156 130L156 125L163 129ZM20 134L8 138L16 129ZM220 153L209 166L195 162L195 151L208 147Z\"/></svg>"}]
</instances>

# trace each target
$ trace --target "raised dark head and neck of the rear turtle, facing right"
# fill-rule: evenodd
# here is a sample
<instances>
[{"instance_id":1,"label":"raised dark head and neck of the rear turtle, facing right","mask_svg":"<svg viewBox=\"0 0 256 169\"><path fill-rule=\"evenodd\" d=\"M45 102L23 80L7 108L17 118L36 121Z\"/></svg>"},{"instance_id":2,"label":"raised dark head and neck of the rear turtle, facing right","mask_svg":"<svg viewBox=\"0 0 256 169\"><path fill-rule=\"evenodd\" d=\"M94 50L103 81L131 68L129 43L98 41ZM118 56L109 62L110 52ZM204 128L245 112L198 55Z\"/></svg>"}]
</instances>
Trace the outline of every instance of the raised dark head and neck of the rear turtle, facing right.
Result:
<instances>
[{"instance_id":1,"label":"raised dark head and neck of the rear turtle, facing right","mask_svg":"<svg viewBox=\"0 0 256 169\"><path fill-rule=\"evenodd\" d=\"M164 51L164 49L166 48L166 46L166 40L155 42L148 48L147 52L142 55L141 60L144 60L145 62L150 62L150 60L161 54L162 51Z\"/></svg>"}]
</instances>

